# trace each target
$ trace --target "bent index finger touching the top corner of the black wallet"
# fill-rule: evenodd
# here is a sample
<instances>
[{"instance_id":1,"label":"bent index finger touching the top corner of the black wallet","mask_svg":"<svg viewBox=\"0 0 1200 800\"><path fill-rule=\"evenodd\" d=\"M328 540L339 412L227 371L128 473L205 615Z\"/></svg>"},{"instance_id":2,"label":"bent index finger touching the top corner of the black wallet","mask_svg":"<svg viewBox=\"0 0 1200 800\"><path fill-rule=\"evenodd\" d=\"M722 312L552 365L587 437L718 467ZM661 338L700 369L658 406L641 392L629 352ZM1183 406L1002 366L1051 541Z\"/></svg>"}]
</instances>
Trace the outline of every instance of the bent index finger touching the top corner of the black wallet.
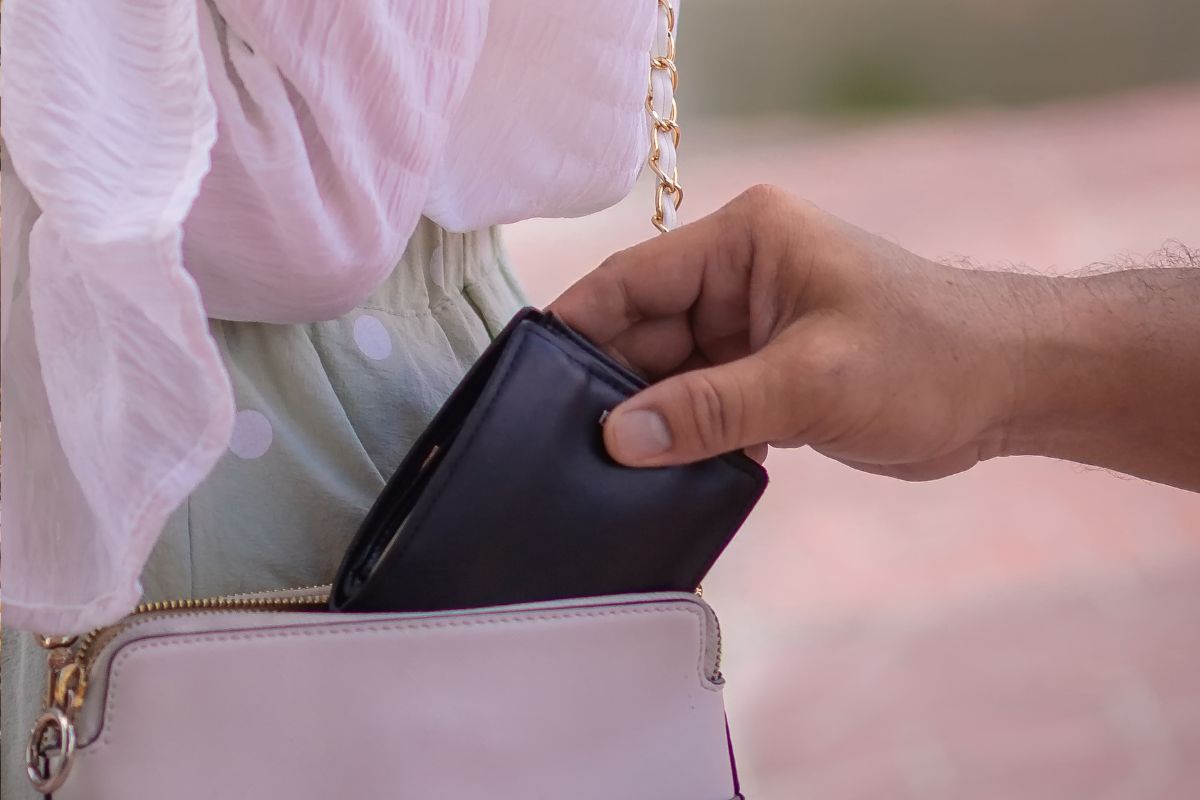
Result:
<instances>
[{"instance_id":1,"label":"bent index finger touching the top corner of the black wallet","mask_svg":"<svg viewBox=\"0 0 1200 800\"><path fill-rule=\"evenodd\" d=\"M614 253L550 305L550 311L605 344L635 323L690 309L702 293L732 295L721 307L744 318L752 247L745 216L721 209ZM742 321L744 325L744 320Z\"/></svg>"}]
</instances>

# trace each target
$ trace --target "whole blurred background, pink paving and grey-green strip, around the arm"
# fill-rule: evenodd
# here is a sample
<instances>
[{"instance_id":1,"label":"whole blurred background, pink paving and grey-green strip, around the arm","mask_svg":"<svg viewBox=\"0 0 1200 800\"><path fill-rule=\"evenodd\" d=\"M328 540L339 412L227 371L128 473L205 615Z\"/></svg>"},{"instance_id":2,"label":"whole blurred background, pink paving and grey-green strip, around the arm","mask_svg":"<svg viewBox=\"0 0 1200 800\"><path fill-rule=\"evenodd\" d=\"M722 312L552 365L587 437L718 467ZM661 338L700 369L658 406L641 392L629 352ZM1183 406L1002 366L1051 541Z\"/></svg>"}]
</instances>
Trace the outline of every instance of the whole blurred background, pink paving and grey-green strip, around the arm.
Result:
<instances>
[{"instance_id":1,"label":"whole blurred background, pink paving and grey-green strip, around the arm","mask_svg":"<svg viewBox=\"0 0 1200 800\"><path fill-rule=\"evenodd\" d=\"M1198 247L1198 34L1196 0L685 0L683 217L768 181L984 267ZM533 300L650 235L650 193L514 225ZM1200 495L767 465L706 583L751 800L1200 796Z\"/></svg>"}]
</instances>

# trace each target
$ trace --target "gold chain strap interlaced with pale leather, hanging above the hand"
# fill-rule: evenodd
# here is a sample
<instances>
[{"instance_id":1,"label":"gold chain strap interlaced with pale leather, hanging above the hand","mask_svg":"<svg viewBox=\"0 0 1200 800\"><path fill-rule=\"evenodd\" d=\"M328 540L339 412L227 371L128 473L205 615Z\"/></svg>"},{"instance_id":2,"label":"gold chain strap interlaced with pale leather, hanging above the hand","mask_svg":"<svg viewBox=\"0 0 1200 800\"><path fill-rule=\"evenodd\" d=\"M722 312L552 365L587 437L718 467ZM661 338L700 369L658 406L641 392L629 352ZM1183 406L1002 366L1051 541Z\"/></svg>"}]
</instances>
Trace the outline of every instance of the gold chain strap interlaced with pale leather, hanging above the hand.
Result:
<instances>
[{"instance_id":1,"label":"gold chain strap interlaced with pale leather, hanging above the hand","mask_svg":"<svg viewBox=\"0 0 1200 800\"><path fill-rule=\"evenodd\" d=\"M649 89L646 92L646 113L650 118L650 156L647 164L658 179L650 222L661 233L666 233L676 227L677 211L683 203L676 156L679 148L679 124L674 91L679 86L679 71L674 64L674 6L671 0L658 2L658 26L654 49L650 52ZM667 197L670 201L666 200Z\"/></svg>"}]
</instances>

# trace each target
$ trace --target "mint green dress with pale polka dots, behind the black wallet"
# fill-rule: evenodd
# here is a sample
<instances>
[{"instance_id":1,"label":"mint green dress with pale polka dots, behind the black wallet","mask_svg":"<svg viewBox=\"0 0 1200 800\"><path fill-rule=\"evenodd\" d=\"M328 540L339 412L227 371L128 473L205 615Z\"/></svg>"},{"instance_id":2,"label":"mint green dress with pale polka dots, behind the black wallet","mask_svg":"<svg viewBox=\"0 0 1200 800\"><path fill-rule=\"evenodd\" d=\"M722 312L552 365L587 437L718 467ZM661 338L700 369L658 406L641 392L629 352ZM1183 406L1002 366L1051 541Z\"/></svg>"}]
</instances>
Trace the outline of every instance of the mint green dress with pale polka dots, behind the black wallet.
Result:
<instances>
[{"instance_id":1,"label":"mint green dress with pale polka dots, behind the black wallet","mask_svg":"<svg viewBox=\"0 0 1200 800\"><path fill-rule=\"evenodd\" d=\"M143 572L148 600L328 583L384 482L479 354L523 305L497 229L422 219L391 276L325 323L211 320L238 415L229 451L170 517ZM44 656L5 631L0 796L38 795L24 747Z\"/></svg>"}]
</instances>

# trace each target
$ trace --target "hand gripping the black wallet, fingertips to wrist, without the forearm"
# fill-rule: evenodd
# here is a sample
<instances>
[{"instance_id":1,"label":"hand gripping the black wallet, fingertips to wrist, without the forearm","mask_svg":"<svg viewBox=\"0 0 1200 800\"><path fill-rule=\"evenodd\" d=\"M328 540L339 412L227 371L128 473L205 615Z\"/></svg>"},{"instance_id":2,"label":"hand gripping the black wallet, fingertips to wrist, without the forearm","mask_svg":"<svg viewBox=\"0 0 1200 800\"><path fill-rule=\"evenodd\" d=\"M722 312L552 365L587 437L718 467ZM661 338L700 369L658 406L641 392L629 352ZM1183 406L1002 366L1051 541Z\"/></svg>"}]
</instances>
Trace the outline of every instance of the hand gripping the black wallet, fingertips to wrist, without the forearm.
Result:
<instances>
[{"instance_id":1,"label":"hand gripping the black wallet, fingertips to wrist, without the forearm","mask_svg":"<svg viewBox=\"0 0 1200 800\"><path fill-rule=\"evenodd\" d=\"M608 419L613 457L690 462L810 445L940 477L998 452L1008 308L934 264L770 188L617 253L551 308L662 383Z\"/></svg>"}]
</instances>

